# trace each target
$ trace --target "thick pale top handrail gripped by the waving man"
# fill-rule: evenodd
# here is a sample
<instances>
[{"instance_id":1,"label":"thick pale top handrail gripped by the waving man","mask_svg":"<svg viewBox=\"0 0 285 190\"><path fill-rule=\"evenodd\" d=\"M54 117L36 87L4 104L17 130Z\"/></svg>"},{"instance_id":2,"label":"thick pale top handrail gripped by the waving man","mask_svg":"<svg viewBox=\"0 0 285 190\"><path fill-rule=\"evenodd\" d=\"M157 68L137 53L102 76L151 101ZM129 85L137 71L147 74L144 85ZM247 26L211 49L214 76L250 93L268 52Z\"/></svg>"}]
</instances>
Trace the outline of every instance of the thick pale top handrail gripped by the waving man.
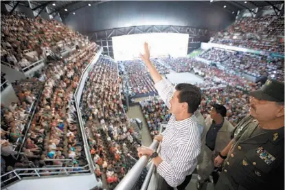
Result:
<instances>
[{"instance_id":1,"label":"thick pale top handrail gripped by the waving man","mask_svg":"<svg viewBox=\"0 0 285 190\"><path fill-rule=\"evenodd\" d=\"M158 140L153 140L152 144L150 145L151 149L156 149L157 145L159 144ZM115 190L131 190L135 186L137 180L139 179L139 176L141 176L141 171L144 170L144 167L146 167L146 164L148 163L148 156L141 156L137 163L126 173L126 176L117 184L117 187L115 187Z\"/></svg>"}]
</instances>

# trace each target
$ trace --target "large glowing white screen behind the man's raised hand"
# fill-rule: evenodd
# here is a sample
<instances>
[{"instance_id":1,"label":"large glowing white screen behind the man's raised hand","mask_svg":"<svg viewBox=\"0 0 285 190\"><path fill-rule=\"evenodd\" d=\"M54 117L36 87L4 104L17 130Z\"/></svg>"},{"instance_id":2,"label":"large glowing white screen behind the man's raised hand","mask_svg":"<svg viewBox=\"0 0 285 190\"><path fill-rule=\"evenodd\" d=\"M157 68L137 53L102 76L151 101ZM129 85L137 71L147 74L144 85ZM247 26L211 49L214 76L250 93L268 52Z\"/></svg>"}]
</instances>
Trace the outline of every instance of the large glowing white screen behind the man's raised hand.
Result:
<instances>
[{"instance_id":1,"label":"large glowing white screen behind the man's raised hand","mask_svg":"<svg viewBox=\"0 0 285 190\"><path fill-rule=\"evenodd\" d=\"M144 52L144 42L150 46L150 56L180 57L187 55L189 34L177 33L152 33L131 34L115 36L113 41L113 52L115 61L139 59L139 53Z\"/></svg>"}]
</instances>

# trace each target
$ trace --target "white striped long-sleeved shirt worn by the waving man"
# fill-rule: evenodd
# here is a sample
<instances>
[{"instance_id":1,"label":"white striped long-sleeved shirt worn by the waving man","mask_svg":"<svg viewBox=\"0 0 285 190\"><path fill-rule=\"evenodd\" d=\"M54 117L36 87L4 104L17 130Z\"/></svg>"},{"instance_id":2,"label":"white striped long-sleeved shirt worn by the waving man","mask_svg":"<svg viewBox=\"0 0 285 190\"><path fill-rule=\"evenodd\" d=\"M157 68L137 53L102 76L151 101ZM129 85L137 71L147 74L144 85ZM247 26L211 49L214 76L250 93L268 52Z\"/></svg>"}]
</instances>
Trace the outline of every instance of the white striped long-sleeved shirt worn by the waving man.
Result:
<instances>
[{"instance_id":1,"label":"white striped long-sleeved shirt worn by the waving man","mask_svg":"<svg viewBox=\"0 0 285 190\"><path fill-rule=\"evenodd\" d=\"M174 91L172 85L161 80L155 84L159 96L170 108L170 98ZM161 142L161 159L157 172L171 186L177 187L185 177L192 174L197 165L197 157L201 153L201 137L198 121L194 114L185 120L170 117Z\"/></svg>"}]
</instances>

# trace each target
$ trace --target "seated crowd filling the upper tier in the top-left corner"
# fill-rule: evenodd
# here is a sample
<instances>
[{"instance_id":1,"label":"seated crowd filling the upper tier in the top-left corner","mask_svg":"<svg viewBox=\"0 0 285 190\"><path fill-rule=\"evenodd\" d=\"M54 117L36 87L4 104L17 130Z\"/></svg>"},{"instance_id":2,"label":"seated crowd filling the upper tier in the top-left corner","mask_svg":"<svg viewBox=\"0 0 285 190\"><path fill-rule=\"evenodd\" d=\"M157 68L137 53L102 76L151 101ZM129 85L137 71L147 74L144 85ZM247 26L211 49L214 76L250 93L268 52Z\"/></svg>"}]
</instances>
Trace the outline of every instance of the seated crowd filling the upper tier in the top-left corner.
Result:
<instances>
[{"instance_id":1,"label":"seated crowd filling the upper tier in the top-left corner","mask_svg":"<svg viewBox=\"0 0 285 190\"><path fill-rule=\"evenodd\" d=\"M32 19L19 12L1 13L1 60L19 70L46 59L46 50L56 47L57 43L80 39L83 39L81 34L54 19Z\"/></svg>"}]
</instances>

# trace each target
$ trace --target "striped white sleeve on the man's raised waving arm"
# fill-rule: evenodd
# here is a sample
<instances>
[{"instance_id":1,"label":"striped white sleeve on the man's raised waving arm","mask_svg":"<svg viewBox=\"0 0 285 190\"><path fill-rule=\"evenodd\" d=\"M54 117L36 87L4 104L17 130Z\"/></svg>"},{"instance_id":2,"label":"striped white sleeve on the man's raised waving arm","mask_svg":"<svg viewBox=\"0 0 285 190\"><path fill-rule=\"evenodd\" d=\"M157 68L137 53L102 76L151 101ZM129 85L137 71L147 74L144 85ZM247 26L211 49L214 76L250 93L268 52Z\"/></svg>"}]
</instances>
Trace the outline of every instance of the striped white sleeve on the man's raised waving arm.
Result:
<instances>
[{"instance_id":1,"label":"striped white sleeve on the man's raised waving arm","mask_svg":"<svg viewBox=\"0 0 285 190\"><path fill-rule=\"evenodd\" d=\"M164 103L166 103L166 106L168 109L170 109L170 99L173 96L173 87L165 81L164 79L161 79L157 83L155 83L155 89L157 89L157 92L159 92L159 96L163 100Z\"/></svg>"}]
</instances>

